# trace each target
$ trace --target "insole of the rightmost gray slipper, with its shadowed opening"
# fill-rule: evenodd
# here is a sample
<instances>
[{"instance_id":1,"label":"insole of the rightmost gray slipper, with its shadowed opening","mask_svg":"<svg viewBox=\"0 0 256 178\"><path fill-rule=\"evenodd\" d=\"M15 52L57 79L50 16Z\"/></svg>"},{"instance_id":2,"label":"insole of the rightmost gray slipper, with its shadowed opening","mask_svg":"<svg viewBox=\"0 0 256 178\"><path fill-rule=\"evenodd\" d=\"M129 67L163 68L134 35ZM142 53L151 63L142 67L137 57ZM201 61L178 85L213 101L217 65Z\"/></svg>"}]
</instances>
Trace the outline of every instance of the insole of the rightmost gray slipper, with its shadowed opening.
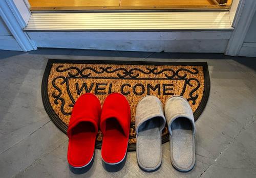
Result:
<instances>
[{"instance_id":1,"label":"insole of the rightmost gray slipper, with its shadowed opening","mask_svg":"<svg viewBox=\"0 0 256 178\"><path fill-rule=\"evenodd\" d=\"M173 163L181 169L187 169L193 164L195 154L192 125L186 118L177 118L173 121L171 128Z\"/></svg>"}]
</instances>

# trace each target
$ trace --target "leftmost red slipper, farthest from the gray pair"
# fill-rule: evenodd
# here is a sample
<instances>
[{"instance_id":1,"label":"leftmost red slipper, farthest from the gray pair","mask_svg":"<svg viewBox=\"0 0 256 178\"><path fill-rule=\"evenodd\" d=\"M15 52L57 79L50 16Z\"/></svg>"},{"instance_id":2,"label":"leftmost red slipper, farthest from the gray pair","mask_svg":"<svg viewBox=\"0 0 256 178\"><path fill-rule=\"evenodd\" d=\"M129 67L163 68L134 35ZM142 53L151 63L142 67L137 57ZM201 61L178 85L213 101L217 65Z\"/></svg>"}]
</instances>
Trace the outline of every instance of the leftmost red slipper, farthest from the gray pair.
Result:
<instances>
[{"instance_id":1,"label":"leftmost red slipper, farthest from the gray pair","mask_svg":"<svg viewBox=\"0 0 256 178\"><path fill-rule=\"evenodd\" d=\"M77 99L68 128L68 162L72 167L81 168L91 163L100 113L100 101L94 94L86 93Z\"/></svg>"}]
</instances>

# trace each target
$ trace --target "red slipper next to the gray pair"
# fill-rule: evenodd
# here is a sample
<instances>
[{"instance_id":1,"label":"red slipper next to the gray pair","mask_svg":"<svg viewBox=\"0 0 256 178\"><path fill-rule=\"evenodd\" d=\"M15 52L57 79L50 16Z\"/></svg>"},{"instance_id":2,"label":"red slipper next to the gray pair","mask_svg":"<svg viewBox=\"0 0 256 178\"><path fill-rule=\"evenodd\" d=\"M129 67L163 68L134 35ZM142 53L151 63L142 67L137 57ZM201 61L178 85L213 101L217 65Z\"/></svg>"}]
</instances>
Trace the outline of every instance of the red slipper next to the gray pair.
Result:
<instances>
[{"instance_id":1,"label":"red slipper next to the gray pair","mask_svg":"<svg viewBox=\"0 0 256 178\"><path fill-rule=\"evenodd\" d=\"M130 105L120 93L106 97L100 117L103 133L101 157L106 164L119 164L125 156L130 133Z\"/></svg>"}]
</instances>

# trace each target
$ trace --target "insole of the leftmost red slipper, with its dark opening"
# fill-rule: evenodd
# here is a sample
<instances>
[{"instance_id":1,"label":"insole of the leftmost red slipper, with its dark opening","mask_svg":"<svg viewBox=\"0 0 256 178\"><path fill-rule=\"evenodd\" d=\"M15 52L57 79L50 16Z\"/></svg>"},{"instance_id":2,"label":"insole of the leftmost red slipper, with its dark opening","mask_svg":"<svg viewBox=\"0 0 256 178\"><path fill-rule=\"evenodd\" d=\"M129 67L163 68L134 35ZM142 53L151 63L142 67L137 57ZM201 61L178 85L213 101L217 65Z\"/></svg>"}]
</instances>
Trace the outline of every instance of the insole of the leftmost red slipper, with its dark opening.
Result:
<instances>
[{"instance_id":1,"label":"insole of the leftmost red slipper, with its dark opening","mask_svg":"<svg viewBox=\"0 0 256 178\"><path fill-rule=\"evenodd\" d=\"M80 122L72 129L69 139L69 161L72 165L90 163L94 154L96 130L91 122Z\"/></svg>"}]
</instances>

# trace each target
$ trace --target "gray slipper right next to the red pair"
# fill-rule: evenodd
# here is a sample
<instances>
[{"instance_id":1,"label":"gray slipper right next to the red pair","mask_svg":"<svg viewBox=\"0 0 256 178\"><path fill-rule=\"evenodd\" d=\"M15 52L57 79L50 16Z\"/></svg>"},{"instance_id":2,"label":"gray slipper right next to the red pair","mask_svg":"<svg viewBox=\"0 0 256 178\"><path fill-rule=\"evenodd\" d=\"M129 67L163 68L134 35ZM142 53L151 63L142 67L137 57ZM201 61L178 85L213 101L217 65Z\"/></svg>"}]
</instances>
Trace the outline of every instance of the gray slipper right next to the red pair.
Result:
<instances>
[{"instance_id":1,"label":"gray slipper right next to the red pair","mask_svg":"<svg viewBox=\"0 0 256 178\"><path fill-rule=\"evenodd\" d=\"M161 134L165 123L163 106L158 97L144 96L135 115L137 161L143 170L156 170L162 163Z\"/></svg>"}]
</instances>

